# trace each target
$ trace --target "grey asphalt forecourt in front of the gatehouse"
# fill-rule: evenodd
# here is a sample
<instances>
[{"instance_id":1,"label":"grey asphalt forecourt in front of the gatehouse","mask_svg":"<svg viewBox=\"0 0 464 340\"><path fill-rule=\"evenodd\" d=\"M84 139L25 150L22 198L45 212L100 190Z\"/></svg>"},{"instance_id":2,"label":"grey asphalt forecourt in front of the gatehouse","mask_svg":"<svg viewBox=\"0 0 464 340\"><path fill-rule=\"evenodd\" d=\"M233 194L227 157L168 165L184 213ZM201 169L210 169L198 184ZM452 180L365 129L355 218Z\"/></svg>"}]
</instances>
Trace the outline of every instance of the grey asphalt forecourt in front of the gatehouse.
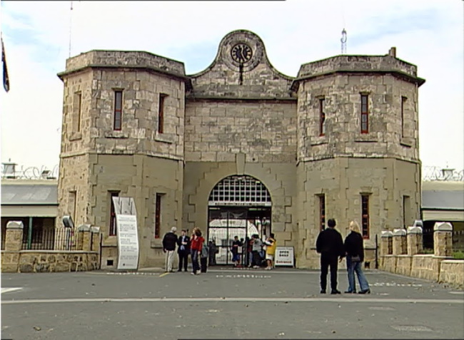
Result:
<instances>
[{"instance_id":1,"label":"grey asphalt forecourt in front of the gatehouse","mask_svg":"<svg viewBox=\"0 0 464 340\"><path fill-rule=\"evenodd\" d=\"M1 339L464 339L462 290L366 276L323 295L297 269L1 274Z\"/></svg>"}]
</instances>

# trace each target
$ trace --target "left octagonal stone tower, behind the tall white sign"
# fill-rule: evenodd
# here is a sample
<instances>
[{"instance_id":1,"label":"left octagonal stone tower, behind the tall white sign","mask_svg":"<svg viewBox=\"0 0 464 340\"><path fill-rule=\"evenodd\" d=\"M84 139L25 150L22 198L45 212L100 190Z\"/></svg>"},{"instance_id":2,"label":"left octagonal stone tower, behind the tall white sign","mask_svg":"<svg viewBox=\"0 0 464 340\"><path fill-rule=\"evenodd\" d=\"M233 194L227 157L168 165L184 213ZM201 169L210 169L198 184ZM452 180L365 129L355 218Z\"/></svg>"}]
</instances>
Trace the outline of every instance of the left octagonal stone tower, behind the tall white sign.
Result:
<instances>
[{"instance_id":1,"label":"left octagonal stone tower, behind the tall white sign","mask_svg":"<svg viewBox=\"0 0 464 340\"><path fill-rule=\"evenodd\" d=\"M59 217L103 231L102 257L116 264L111 197L136 202L140 267L153 265L156 205L166 229L181 227L183 63L138 51L90 51L66 61ZM162 250L157 249L162 255ZM106 265L106 262L104 263Z\"/></svg>"}]
</instances>

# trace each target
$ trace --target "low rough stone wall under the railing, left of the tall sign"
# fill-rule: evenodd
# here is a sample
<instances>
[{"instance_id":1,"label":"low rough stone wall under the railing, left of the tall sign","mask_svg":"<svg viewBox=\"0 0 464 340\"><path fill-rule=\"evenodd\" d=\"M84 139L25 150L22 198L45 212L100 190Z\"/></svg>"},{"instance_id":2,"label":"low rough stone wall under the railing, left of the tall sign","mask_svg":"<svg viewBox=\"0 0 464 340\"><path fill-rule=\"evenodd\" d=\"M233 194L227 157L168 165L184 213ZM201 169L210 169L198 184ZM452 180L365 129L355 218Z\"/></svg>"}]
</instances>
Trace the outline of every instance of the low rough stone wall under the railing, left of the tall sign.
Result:
<instances>
[{"instance_id":1,"label":"low rough stone wall under the railing, left of the tall sign","mask_svg":"<svg viewBox=\"0 0 464 340\"><path fill-rule=\"evenodd\" d=\"M99 253L61 250L1 252L2 273L83 272L99 269Z\"/></svg>"}]
</instances>

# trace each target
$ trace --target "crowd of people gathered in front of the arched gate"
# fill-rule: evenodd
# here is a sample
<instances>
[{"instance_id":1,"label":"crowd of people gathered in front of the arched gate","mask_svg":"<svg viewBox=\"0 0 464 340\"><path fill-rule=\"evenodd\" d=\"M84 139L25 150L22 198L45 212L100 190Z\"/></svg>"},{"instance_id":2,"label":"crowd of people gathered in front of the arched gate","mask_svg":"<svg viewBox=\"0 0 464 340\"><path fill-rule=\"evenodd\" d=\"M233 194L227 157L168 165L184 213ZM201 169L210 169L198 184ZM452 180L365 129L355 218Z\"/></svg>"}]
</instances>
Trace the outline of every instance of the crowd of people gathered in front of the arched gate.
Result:
<instances>
[{"instance_id":1,"label":"crowd of people gathered in front of the arched gate","mask_svg":"<svg viewBox=\"0 0 464 340\"><path fill-rule=\"evenodd\" d=\"M187 235L186 230L181 230L181 235L176 235L177 228L172 227L170 232L167 232L163 237L163 252L166 254L165 269L166 272L174 272L173 262L174 254L178 254L178 272L182 269L188 271L188 258L191 257L192 273L198 275L206 273L209 265L216 264L216 254L219 249L214 240L206 242L202 236L201 230L193 228L191 236ZM248 267L258 268L266 266L265 269L273 269L273 259L276 253L276 238L273 233L262 241L258 235L253 235L251 239L238 239L238 236L233 238L231 244L232 262L234 267L241 266L241 255L246 246L246 263Z\"/></svg>"}]
</instances>

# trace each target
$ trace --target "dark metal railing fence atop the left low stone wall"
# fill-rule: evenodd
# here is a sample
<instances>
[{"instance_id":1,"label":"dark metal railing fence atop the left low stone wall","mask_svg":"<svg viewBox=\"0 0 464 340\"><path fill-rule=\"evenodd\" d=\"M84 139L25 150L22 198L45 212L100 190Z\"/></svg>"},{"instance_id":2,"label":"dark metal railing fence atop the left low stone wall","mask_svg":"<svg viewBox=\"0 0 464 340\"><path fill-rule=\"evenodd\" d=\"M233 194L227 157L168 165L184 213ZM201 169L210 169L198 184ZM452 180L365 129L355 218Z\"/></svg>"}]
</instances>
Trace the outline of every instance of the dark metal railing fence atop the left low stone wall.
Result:
<instances>
[{"instance_id":1,"label":"dark metal railing fence atop the left low stone wall","mask_svg":"<svg viewBox=\"0 0 464 340\"><path fill-rule=\"evenodd\" d=\"M31 235L24 233L23 250L80 250L78 233L71 228L32 230Z\"/></svg>"}]
</instances>

